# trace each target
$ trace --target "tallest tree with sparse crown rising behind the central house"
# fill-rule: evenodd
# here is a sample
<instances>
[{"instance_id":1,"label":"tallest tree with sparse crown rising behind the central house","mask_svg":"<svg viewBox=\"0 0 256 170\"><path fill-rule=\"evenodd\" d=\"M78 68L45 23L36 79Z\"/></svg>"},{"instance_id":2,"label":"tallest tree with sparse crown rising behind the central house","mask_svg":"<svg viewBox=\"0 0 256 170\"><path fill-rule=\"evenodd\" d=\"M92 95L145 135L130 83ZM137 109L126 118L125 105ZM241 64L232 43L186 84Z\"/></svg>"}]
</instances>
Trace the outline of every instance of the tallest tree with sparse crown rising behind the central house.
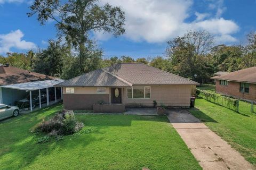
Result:
<instances>
[{"instance_id":1,"label":"tallest tree with sparse crown rising behind the central house","mask_svg":"<svg viewBox=\"0 0 256 170\"><path fill-rule=\"evenodd\" d=\"M94 70L99 65L100 58L95 60L96 55L90 52L94 45L90 40L91 32L112 32L114 36L125 32L125 16L121 8L109 4L100 6L97 0L35 0L28 13L28 16L33 15L37 15L42 25L48 20L55 22L59 37L64 36L74 48L78 74Z\"/></svg>"}]
</instances>

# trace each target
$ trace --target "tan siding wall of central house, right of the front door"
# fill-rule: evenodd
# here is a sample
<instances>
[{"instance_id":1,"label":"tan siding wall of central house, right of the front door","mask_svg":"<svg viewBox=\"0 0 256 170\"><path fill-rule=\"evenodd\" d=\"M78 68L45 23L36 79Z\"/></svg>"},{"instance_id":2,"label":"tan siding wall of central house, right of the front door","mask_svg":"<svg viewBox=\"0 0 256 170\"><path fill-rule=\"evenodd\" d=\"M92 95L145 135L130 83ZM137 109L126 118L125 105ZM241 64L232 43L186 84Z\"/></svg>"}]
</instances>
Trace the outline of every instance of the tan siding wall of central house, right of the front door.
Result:
<instances>
[{"instance_id":1,"label":"tan siding wall of central house, right of the front door","mask_svg":"<svg viewBox=\"0 0 256 170\"><path fill-rule=\"evenodd\" d=\"M126 88L123 90L123 103L125 106L146 106L152 107L156 100L158 106L163 104L169 107L189 107L191 85L159 85L151 86L150 99L127 98Z\"/></svg>"}]
</instances>

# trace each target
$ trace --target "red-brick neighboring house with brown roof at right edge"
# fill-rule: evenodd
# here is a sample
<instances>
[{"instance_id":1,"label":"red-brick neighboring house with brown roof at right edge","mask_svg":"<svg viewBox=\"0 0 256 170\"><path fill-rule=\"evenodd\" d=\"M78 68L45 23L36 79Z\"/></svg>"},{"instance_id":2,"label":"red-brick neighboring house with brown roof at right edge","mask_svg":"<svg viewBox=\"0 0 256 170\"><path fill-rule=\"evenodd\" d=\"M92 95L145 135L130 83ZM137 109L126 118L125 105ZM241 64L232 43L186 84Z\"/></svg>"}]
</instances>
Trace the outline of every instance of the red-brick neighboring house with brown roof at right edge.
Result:
<instances>
[{"instance_id":1,"label":"red-brick neighboring house with brown roof at right edge","mask_svg":"<svg viewBox=\"0 0 256 170\"><path fill-rule=\"evenodd\" d=\"M211 79L215 80L215 91L219 94L247 100L256 99L256 67L217 75Z\"/></svg>"}]
</instances>

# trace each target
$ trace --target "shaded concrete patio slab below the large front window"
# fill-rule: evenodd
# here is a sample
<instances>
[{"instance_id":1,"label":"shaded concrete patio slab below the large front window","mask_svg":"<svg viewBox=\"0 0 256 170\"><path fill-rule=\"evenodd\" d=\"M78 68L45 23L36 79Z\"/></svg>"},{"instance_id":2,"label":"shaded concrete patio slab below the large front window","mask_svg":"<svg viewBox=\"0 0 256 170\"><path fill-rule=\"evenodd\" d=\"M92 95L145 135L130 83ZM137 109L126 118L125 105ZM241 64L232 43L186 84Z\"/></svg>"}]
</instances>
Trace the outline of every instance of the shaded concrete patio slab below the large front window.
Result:
<instances>
[{"instance_id":1,"label":"shaded concrete patio slab below the large front window","mask_svg":"<svg viewBox=\"0 0 256 170\"><path fill-rule=\"evenodd\" d=\"M150 107L132 107L132 108L126 108L126 111L124 113L125 115L157 115L156 108L150 108Z\"/></svg>"}]
</instances>

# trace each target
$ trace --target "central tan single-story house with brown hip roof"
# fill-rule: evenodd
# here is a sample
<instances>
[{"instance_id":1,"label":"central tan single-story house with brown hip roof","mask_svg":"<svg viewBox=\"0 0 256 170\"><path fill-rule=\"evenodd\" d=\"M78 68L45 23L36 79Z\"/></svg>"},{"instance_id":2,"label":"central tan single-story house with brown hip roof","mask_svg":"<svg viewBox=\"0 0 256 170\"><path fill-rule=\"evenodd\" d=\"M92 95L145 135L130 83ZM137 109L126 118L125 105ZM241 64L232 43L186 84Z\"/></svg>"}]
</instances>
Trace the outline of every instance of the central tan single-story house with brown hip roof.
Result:
<instances>
[{"instance_id":1,"label":"central tan single-story house with brown hip roof","mask_svg":"<svg viewBox=\"0 0 256 170\"><path fill-rule=\"evenodd\" d=\"M189 107L196 85L199 83L143 63L118 63L54 87L63 88L64 108L92 109L99 103L151 107L154 100L158 106Z\"/></svg>"}]
</instances>

